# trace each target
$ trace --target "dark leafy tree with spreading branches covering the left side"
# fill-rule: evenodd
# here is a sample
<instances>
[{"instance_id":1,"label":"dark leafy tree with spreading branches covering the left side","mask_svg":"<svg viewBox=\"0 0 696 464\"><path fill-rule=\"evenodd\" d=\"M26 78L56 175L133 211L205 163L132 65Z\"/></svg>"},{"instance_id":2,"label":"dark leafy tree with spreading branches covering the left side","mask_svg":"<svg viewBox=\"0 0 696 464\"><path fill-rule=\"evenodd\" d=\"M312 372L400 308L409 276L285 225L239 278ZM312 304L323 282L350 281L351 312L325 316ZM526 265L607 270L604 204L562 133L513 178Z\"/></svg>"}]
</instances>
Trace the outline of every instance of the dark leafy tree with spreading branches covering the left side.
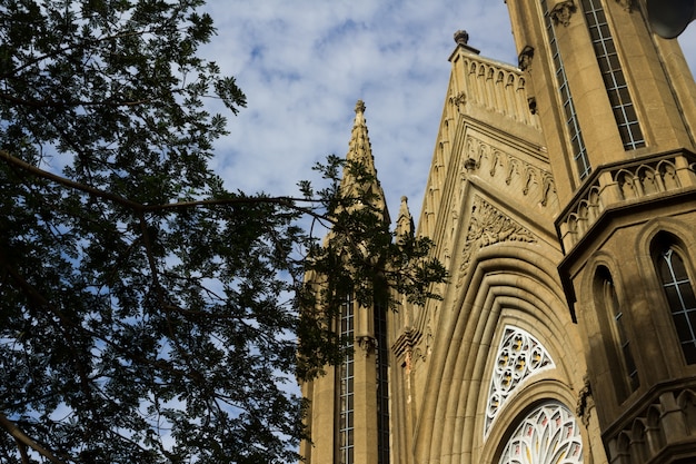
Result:
<instances>
[{"instance_id":1,"label":"dark leafy tree with spreading branches covering the left side","mask_svg":"<svg viewBox=\"0 0 696 464\"><path fill-rule=\"evenodd\" d=\"M341 298L379 278L421 302L445 278L428 240L354 207L358 164L329 157L298 198L226 189L203 103L246 100L197 56L201 3L0 0L4 462L295 461L285 385L341 359Z\"/></svg>"}]
</instances>

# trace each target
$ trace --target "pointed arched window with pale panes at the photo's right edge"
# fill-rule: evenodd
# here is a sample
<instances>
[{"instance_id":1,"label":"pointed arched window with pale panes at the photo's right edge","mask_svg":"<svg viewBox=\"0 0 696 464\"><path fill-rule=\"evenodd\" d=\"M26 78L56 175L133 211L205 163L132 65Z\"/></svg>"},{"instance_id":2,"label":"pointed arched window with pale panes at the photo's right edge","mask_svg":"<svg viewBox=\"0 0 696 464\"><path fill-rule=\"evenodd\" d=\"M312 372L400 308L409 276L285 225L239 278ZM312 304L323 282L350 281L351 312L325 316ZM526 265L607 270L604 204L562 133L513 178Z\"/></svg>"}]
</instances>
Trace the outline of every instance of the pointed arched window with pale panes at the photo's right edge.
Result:
<instances>
[{"instance_id":1,"label":"pointed arched window with pale panes at the photo's right edge","mask_svg":"<svg viewBox=\"0 0 696 464\"><path fill-rule=\"evenodd\" d=\"M657 257L657 270L687 364L696 364L696 297L684 259L675 246Z\"/></svg>"}]
</instances>

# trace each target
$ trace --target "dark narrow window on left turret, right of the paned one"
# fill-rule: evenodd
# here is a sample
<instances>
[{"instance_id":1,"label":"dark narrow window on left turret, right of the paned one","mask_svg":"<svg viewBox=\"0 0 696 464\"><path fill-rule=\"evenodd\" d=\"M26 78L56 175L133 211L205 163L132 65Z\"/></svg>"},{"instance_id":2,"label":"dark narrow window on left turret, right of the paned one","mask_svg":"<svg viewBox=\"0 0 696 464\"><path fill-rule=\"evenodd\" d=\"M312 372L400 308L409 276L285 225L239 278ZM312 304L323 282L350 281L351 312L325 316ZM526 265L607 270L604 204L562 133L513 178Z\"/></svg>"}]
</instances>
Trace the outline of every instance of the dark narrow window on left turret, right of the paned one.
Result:
<instances>
[{"instance_id":1,"label":"dark narrow window on left turret, right of the paned one","mask_svg":"<svg viewBox=\"0 0 696 464\"><path fill-rule=\"evenodd\" d=\"M377 453L379 464L389 464L389 348L386 305L376 298L375 336L377 338Z\"/></svg>"}]
</instances>

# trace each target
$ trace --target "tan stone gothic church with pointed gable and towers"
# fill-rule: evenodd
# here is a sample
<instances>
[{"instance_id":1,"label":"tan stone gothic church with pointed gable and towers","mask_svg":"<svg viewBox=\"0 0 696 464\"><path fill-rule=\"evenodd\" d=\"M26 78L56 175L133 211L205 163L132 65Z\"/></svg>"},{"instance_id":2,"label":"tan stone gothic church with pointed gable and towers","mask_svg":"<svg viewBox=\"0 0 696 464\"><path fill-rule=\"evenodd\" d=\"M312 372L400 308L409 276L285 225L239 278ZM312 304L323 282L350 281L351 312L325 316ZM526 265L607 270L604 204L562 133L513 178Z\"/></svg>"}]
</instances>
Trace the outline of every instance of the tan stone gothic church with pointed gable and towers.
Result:
<instances>
[{"instance_id":1,"label":"tan stone gothic church with pointed gable and towers","mask_svg":"<svg viewBox=\"0 0 696 464\"><path fill-rule=\"evenodd\" d=\"M402 199L394 225L436 244L443 299L345 305L352 353L302 385L309 464L696 463L692 73L644 0L507 7L518 62L455 34L419 223ZM374 166L361 102L347 157Z\"/></svg>"}]
</instances>

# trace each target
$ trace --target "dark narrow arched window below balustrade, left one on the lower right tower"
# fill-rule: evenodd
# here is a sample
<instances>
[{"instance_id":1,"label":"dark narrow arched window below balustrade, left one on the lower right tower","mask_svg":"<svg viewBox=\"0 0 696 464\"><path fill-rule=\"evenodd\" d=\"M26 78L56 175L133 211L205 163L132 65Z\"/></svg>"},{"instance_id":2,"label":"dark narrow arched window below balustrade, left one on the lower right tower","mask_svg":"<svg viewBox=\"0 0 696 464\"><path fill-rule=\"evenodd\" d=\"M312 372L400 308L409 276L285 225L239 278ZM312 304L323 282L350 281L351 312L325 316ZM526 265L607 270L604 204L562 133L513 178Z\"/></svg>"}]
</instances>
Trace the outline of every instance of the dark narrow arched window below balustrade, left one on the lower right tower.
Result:
<instances>
[{"instance_id":1,"label":"dark narrow arched window below balustrade, left one on the lower right tower","mask_svg":"<svg viewBox=\"0 0 696 464\"><path fill-rule=\"evenodd\" d=\"M640 381L638 378L636 362L633 356L630 338L628 337L628 333L626 330L624 313L616 293L616 286L614 285L614 279L607 268L600 267L598 270L598 277L601 284L601 300L604 303L605 310L607 312L607 316L612 320L612 332L614 339L618 345L618 355L620 358L623 375L628 387L630 388L630 392L635 392L640 385Z\"/></svg>"}]
</instances>

